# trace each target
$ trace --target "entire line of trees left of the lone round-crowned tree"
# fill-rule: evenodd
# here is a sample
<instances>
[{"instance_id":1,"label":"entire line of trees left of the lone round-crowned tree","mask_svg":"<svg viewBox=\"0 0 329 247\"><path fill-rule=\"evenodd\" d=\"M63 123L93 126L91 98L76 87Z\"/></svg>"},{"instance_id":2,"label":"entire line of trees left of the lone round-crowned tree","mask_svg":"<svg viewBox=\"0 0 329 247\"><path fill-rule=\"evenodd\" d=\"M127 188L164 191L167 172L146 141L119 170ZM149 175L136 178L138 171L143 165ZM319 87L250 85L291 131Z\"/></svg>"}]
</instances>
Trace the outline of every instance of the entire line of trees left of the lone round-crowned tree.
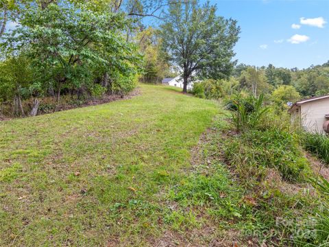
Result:
<instances>
[{"instance_id":1,"label":"entire line of trees left of the lone round-crowned tree","mask_svg":"<svg viewBox=\"0 0 329 247\"><path fill-rule=\"evenodd\" d=\"M124 95L170 74L158 30L164 0L0 1L0 104L36 115L42 99ZM16 25L8 30L8 25ZM28 102L28 104L26 104Z\"/></svg>"}]
</instances>

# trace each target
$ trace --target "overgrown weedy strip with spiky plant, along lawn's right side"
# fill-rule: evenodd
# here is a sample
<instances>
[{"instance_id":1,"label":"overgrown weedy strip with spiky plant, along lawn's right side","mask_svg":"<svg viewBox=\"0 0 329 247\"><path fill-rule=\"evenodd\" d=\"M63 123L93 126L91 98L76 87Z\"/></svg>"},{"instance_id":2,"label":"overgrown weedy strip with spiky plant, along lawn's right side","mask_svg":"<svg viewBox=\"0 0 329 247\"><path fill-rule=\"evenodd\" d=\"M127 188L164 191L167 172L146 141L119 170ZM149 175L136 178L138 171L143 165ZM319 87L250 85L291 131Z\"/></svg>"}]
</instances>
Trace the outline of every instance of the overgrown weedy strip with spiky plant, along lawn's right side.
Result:
<instances>
[{"instance_id":1,"label":"overgrown weedy strip with spiky plant, along lawn's right side","mask_svg":"<svg viewBox=\"0 0 329 247\"><path fill-rule=\"evenodd\" d=\"M297 245L301 234L315 229L307 217L321 204L316 197L287 193L289 187L307 183L314 176L300 146L300 135L290 130L289 121L276 115L275 106L263 105L262 95L237 95L227 108L232 111L234 131L223 132L221 158L245 194L252 195L247 198L254 205L254 222L245 222L241 229L260 242ZM293 206L296 204L301 207Z\"/></svg>"}]
</instances>

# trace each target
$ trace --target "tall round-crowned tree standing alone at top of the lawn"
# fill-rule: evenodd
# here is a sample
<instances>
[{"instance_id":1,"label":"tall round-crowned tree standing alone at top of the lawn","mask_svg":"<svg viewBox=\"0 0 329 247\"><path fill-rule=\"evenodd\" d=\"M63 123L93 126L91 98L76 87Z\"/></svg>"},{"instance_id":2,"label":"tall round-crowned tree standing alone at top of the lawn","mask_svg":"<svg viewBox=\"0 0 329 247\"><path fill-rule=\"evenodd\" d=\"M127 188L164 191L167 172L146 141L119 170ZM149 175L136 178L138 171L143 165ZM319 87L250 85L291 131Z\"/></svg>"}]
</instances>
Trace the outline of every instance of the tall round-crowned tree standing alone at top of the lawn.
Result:
<instances>
[{"instance_id":1,"label":"tall round-crowned tree standing alone at top of the lawn","mask_svg":"<svg viewBox=\"0 0 329 247\"><path fill-rule=\"evenodd\" d=\"M240 28L236 21L217 16L217 7L209 2L181 1L169 5L161 25L164 49L172 62L182 69L183 91L191 75L204 78L228 78L235 61L234 45Z\"/></svg>"}]
</instances>

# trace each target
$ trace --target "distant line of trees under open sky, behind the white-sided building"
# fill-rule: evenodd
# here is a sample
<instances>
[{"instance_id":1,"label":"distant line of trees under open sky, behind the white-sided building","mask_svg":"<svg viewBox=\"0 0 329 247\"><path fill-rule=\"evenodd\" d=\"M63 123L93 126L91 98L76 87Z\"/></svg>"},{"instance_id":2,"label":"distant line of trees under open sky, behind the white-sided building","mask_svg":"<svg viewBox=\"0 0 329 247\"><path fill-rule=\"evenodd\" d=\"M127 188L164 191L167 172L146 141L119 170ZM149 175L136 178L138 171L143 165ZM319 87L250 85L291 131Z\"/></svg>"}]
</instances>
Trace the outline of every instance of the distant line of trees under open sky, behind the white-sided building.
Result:
<instances>
[{"instance_id":1,"label":"distant line of trees under open sky, behind the white-sided building","mask_svg":"<svg viewBox=\"0 0 329 247\"><path fill-rule=\"evenodd\" d=\"M284 110L288 102L329 94L329 62L302 70L238 64L229 79L202 80L194 84L192 93L208 99L264 95L265 102Z\"/></svg>"}]
</instances>

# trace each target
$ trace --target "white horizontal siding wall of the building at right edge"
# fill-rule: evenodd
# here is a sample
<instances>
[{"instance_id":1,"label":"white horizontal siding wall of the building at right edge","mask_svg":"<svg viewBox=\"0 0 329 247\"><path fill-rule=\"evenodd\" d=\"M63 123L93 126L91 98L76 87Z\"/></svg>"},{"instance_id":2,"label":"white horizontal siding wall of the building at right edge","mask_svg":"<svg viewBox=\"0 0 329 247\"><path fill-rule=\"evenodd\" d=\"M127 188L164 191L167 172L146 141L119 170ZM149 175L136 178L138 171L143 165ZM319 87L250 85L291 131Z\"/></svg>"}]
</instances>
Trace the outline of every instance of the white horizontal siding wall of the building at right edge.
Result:
<instances>
[{"instance_id":1,"label":"white horizontal siding wall of the building at right edge","mask_svg":"<svg viewBox=\"0 0 329 247\"><path fill-rule=\"evenodd\" d=\"M317 99L305 102L300 105L302 127L308 132L324 133L323 125L326 120L324 117L329 114L329 98Z\"/></svg>"}]
</instances>

